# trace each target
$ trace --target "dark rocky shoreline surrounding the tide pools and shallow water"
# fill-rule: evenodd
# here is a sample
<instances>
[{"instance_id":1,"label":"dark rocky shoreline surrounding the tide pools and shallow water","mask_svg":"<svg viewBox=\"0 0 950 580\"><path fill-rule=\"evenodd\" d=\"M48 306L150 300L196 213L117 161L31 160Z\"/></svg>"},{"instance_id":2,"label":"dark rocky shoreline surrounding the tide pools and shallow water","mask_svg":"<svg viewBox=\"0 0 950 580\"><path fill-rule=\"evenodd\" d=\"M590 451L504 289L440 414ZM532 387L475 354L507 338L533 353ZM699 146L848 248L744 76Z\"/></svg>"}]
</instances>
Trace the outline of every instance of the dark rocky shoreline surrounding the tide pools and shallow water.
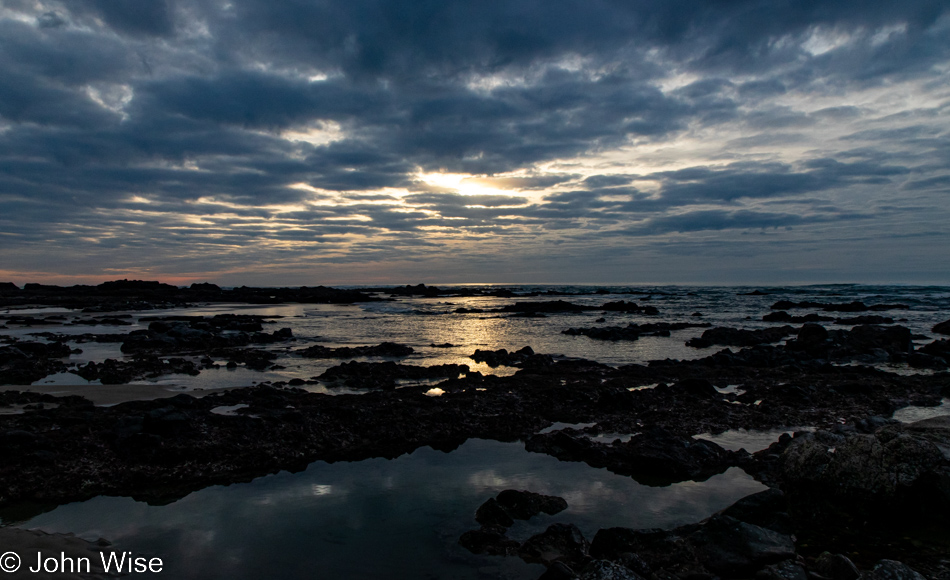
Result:
<instances>
[{"instance_id":1,"label":"dark rocky shoreline surrounding the tide pools and shallow water","mask_svg":"<svg viewBox=\"0 0 950 580\"><path fill-rule=\"evenodd\" d=\"M12 292L4 289L7 297ZM334 299L357 297L343 292L349 294ZM113 304L73 298L83 308ZM814 307L885 310L854 303ZM510 311L541 314L545 308ZM621 328L615 333L621 338L575 334L583 340L633 340L663 331L641 326ZM770 344L786 337L784 344ZM0 347L0 377L16 384L65 368L69 348L55 338ZM92 363L78 372L104 383L103 377L121 382L161 373L163 365L188 372L191 364L200 372L213 363L200 360L206 352L266 368L272 359L257 347L293 340L289 329L265 333L253 319L156 319L147 331L124 336L122 350L134 355L131 360ZM946 341L915 349L911 340L905 328L874 324L845 330L808 322L771 332L708 328L693 346L741 349L619 368L530 347L476 349L473 360L517 372L495 376L464 365L343 362L321 377L366 391L360 395L317 394L280 382L201 398L183 394L97 407L77 396L8 390L0 392L0 407L17 412L0 415L0 509L22 502L52 507L97 495L161 502L214 484L302 470L316 460L393 458L422 446L450 451L469 438L523 440L529 451L606 468L646 485L701 481L741 467L771 488L701 523L665 531L601 530L589 542L565 527L533 542L512 543L504 526L499 529L499 518L503 523L510 510L480 510L481 535L463 545L544 563L545 578L916 578L910 568L928 578L950 578L944 523L950 516L950 421L902 425L887 419L898 408L936 406L950 396L948 357L940 349ZM412 352L393 343L348 350L300 346L299 356L317 358L398 358ZM931 370L899 375L854 364L862 360ZM433 382L395 388L405 377ZM440 396L429 396L433 386ZM587 426L539 434L554 423ZM789 425L818 430L783 436L755 453L694 437ZM594 438L605 433L629 437L611 443ZM486 515L492 511L494 520ZM943 535L928 537L933 528Z\"/></svg>"}]
</instances>

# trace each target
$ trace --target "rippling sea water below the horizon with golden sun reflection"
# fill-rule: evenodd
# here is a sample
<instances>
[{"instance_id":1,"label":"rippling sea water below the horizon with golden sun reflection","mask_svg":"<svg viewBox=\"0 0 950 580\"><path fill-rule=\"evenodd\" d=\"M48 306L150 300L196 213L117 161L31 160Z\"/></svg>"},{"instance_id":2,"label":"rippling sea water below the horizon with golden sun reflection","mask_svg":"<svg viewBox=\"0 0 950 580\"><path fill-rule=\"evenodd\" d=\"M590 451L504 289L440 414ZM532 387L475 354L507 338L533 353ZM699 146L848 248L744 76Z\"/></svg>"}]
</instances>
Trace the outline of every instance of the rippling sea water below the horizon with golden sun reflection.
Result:
<instances>
[{"instance_id":1,"label":"rippling sea water below the horizon with golden sun reflection","mask_svg":"<svg viewBox=\"0 0 950 580\"><path fill-rule=\"evenodd\" d=\"M492 288L501 288L494 286ZM796 302L816 301L848 303L861 300L865 303L902 303L910 310L891 310L858 314L825 313L833 317L851 317L861 314L880 314L892 317L897 324L910 328L915 334L927 338L918 339L918 345L929 342L933 337L930 329L937 322L950 318L950 288L915 286L861 286L826 285L762 288L768 295L745 296L743 293L754 290L752 287L620 287L620 286L505 286L514 292L548 290L586 293L577 296L523 296L514 298L496 297L439 297L405 298L392 301L369 302L355 305L338 304L283 304L283 305L246 305L212 304L191 308L174 308L145 312L120 312L130 314L132 326L13 326L0 330L2 334L29 338L30 333L50 331L65 334L125 333L148 326L140 322L142 316L211 316L223 313L255 314L274 316L264 324L264 330L272 332L289 327L296 341L272 345L269 348L279 354L275 361L283 369L264 372L251 371L239 367L235 370L224 368L204 370L196 377L174 376L150 379L148 382L174 384L193 389L215 389L221 387L247 386L263 381L288 381L293 378L311 379L322 374L336 364L338 360L304 359L293 354L294 350L311 344L325 346L361 346L391 341L406 344L415 349L407 358L399 359L404 364L436 365L464 364L473 371L483 374L507 375L517 369L509 367L491 368L484 363L475 363L469 356L476 349L517 350L525 345L535 352L586 358L604 364L620 366L624 364L643 364L657 359L694 359L708 356L723 347L713 346L706 349L687 347L686 341L699 336L703 328L688 328L673 331L669 337L641 337L636 341L609 342L592 340L585 336L561 334L572 327L626 326L631 322L708 322L714 326L738 328L765 328L777 326L762 321L762 316L772 312L770 306L778 300ZM611 294L593 294L602 288ZM382 297L387 297L383 294ZM623 314L616 312L590 311L583 313L549 314L543 318L508 317L505 314L456 314L457 308L498 309L504 305L520 301L565 300L583 305L602 305L606 302L626 300L637 302L641 306L652 305L659 309L656 316ZM3 314L43 315L52 313L78 312L66 309L0 310ZM815 309L795 309L793 315L805 315L816 312ZM702 316L692 316L700 313ZM95 316L106 316L97 313ZM82 315L87 316L87 315ZM70 317L67 317L70 318ZM604 318L602 323L596 322ZM828 328L848 328L847 326L824 323ZM450 343L449 348L436 348L430 345ZM106 358L123 358L118 343L82 343L71 344L83 350L82 354L70 357L71 362L84 364L90 360L102 361ZM384 360L362 358L356 360ZM226 361L219 361L221 363ZM887 365L891 372L930 372L909 369L906 365L894 367ZM69 380L66 377L63 380ZM84 384L76 377L72 384ZM339 392L327 389L324 385L311 385L316 392Z\"/></svg>"}]
</instances>

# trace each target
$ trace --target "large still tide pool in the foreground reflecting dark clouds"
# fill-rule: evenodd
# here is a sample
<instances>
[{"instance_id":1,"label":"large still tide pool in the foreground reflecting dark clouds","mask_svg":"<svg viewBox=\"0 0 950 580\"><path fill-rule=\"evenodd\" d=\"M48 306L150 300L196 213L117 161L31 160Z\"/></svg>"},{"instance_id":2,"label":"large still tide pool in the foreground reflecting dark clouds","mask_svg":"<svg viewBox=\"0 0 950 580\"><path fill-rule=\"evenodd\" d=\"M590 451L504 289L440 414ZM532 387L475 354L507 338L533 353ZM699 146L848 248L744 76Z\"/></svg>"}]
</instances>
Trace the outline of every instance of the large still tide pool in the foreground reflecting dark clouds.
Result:
<instances>
[{"instance_id":1,"label":"large still tide pool in the foreground reflecting dark clouds","mask_svg":"<svg viewBox=\"0 0 950 580\"><path fill-rule=\"evenodd\" d=\"M394 460L327 464L245 484L207 488L163 506L98 497L22 524L116 550L161 557L181 579L534 579L538 565L475 556L458 545L475 509L508 488L558 495L567 510L519 522L526 539L572 522L592 539L602 527L672 527L700 520L764 486L737 468L703 483L655 488L582 463L528 453L522 443L469 440L451 453L428 447Z\"/></svg>"}]
</instances>

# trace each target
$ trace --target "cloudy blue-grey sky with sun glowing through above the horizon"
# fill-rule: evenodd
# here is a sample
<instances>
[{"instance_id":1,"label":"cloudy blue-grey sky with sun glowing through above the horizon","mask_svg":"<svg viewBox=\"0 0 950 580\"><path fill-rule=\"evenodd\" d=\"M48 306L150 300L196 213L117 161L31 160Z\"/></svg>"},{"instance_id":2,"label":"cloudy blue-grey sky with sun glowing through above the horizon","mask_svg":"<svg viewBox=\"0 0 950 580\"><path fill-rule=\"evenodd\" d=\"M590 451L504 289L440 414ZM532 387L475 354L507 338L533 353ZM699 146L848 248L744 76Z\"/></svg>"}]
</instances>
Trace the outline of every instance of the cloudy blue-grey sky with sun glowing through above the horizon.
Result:
<instances>
[{"instance_id":1,"label":"cloudy blue-grey sky with sun glowing through above the horizon","mask_svg":"<svg viewBox=\"0 0 950 580\"><path fill-rule=\"evenodd\" d=\"M0 0L0 281L950 283L945 0Z\"/></svg>"}]
</instances>

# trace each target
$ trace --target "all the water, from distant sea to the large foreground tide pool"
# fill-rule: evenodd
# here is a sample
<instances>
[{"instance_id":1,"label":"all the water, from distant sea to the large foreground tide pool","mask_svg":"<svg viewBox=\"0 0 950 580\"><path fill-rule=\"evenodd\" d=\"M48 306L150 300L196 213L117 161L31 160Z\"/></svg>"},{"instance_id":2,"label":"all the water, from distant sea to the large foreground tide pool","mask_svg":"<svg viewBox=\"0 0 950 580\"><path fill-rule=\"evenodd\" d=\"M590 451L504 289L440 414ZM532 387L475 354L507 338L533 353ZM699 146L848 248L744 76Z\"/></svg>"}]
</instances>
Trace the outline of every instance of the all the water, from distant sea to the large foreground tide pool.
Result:
<instances>
[{"instance_id":1,"label":"all the water, from distant sea to the large foreground tide pool","mask_svg":"<svg viewBox=\"0 0 950 580\"><path fill-rule=\"evenodd\" d=\"M497 287L495 287L497 288ZM593 292L594 287L509 287L515 292L569 290ZM755 288L735 287L605 287L612 294L551 297L459 297L399 298L358 305L289 304L275 306L199 305L192 308L128 312L131 326L12 326L0 334L29 339L34 332L71 335L125 333L146 328L143 316L258 314L279 317L265 323L264 330L290 327L296 341L271 345L283 369L265 372L239 367L202 370L196 377L169 375L139 381L169 391L213 390L248 386L264 381L310 379L341 360L304 359L294 350L312 344L330 347L361 346L391 341L407 344L415 353L403 364L465 364L483 374L511 374L515 368L491 368L476 364L469 356L476 349L530 345L538 353L564 355L620 366L656 359L691 359L708 356L721 347L694 349L685 342L702 334L702 328L675 331L669 337L642 337L633 342L605 342L583 336L567 336L571 327L625 326L647 322L709 322L714 326L764 328L762 322L778 300L868 304L904 303L910 310L870 312L891 316L898 324L933 338L931 327L950 318L950 288L830 285L762 288L766 296L743 296ZM648 293L648 294L644 294ZM552 314L544 318L508 318L502 314L456 314L460 307L497 309L515 301L566 300L601 305L627 300L659 309L657 316L603 313ZM699 312L702 316L694 317ZM814 309L796 309L805 315ZM66 309L0 310L2 314L66 314ZM106 314L97 313L101 317ZM829 313L849 317L852 314ZM84 316L84 315L82 315ZM596 320L603 317L604 322ZM846 328L831 323L828 328ZM437 348L432 344L451 343ZM72 343L83 350L71 362L124 358L118 343ZM357 360L386 360L381 358ZM891 372L917 372L906 367ZM86 381L69 373L37 382L48 387L77 385ZM108 386L92 385L99 389ZM649 388L655 385L646 385ZM717 385L721 392L736 391L736 385ZM117 387L120 388L120 387ZM316 392L352 392L326 385L308 385ZM895 418L911 421L945 414L948 401L938 408L907 408ZM221 408L220 412L233 412ZM559 424L550 429L568 426ZM584 427L587 425L575 425ZM766 432L729 431L700 435L729 449L755 451L767 447L781 433L799 427ZM630 434L607 433L599 440L626 438ZM588 539L597 529L624 526L663 527L695 522L725 508L735 500L763 489L739 469L706 482L685 482L667 487L646 487L633 479L582 463L559 462L553 457L528 453L522 443L470 440L451 453L429 448L395 460L372 459L353 463L316 462L306 471L280 473L245 484L216 486L188 495L164 506L149 506L129 498L99 497L60 506L37 516L13 516L6 511L4 523L46 531L73 532L88 539L100 536L116 549L162 557L164 574L172 578L458 578L528 579L542 569L517 558L483 557L468 553L458 537L476 527L475 509L489 497L508 488L564 497L570 507L556 516L541 516L519 522L511 535L525 539L553 522L578 525ZM21 512L25 513L25 512Z\"/></svg>"}]
</instances>

